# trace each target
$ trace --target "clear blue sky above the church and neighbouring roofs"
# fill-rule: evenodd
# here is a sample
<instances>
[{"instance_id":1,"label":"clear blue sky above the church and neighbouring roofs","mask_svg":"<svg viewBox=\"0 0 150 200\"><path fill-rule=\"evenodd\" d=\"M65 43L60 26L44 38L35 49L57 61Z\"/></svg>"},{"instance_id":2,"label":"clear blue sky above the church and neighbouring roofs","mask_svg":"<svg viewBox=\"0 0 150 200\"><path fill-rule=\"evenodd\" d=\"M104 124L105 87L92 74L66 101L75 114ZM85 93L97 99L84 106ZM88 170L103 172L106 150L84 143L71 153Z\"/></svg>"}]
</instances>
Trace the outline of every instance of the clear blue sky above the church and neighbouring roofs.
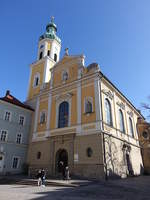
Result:
<instances>
[{"instance_id":1,"label":"clear blue sky above the church and neighbouring roofs","mask_svg":"<svg viewBox=\"0 0 150 200\"><path fill-rule=\"evenodd\" d=\"M139 109L150 95L149 0L1 0L0 96L24 101L38 38L55 17L61 57L85 54ZM143 114L145 114L143 112Z\"/></svg>"}]
</instances>

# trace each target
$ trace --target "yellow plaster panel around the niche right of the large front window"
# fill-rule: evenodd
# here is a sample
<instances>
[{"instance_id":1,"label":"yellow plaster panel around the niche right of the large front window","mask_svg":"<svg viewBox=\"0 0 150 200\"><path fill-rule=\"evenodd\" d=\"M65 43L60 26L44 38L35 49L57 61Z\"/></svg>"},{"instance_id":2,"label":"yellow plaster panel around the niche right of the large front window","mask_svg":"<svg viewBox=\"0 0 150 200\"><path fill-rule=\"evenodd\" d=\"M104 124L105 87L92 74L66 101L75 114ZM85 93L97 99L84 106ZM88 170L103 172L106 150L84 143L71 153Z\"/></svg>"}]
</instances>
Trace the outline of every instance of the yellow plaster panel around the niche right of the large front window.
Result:
<instances>
[{"instance_id":1,"label":"yellow plaster panel around the niche right of the large front window","mask_svg":"<svg viewBox=\"0 0 150 200\"><path fill-rule=\"evenodd\" d=\"M82 100L82 123L90 123L96 121L96 113L95 113L95 91L94 91L94 84L89 85L87 87L82 87L82 95L81 95L81 100ZM85 114L84 113L84 99L85 97L92 97L93 98L93 113L90 114Z\"/></svg>"}]
</instances>

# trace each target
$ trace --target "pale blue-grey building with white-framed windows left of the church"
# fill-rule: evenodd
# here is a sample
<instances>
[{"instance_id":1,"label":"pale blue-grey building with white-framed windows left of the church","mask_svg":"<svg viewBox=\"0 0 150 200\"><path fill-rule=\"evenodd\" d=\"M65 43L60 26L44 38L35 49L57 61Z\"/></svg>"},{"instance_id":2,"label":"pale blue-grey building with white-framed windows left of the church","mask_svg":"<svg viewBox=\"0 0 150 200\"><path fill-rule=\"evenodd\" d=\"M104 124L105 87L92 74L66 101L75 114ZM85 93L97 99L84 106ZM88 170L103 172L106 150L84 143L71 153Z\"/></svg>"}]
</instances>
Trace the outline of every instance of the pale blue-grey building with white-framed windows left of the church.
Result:
<instances>
[{"instance_id":1,"label":"pale blue-grey building with white-framed windows left of the church","mask_svg":"<svg viewBox=\"0 0 150 200\"><path fill-rule=\"evenodd\" d=\"M0 174L23 171L32 111L9 91L0 98Z\"/></svg>"}]
</instances>

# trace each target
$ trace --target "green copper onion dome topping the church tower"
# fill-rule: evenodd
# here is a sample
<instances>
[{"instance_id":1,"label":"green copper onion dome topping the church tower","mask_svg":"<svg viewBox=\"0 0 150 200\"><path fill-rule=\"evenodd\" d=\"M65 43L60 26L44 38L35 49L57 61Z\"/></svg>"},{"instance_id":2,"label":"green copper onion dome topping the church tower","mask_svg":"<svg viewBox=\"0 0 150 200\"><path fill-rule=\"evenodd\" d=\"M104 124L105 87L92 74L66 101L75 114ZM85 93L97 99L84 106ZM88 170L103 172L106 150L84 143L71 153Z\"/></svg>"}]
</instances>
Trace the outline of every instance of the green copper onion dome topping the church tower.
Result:
<instances>
[{"instance_id":1,"label":"green copper onion dome topping the church tower","mask_svg":"<svg viewBox=\"0 0 150 200\"><path fill-rule=\"evenodd\" d=\"M61 43L60 38L56 35L57 26L54 23L54 17L51 18L51 22L46 26L46 32L40 36L39 40L43 40L45 38L55 39L57 42Z\"/></svg>"}]
</instances>

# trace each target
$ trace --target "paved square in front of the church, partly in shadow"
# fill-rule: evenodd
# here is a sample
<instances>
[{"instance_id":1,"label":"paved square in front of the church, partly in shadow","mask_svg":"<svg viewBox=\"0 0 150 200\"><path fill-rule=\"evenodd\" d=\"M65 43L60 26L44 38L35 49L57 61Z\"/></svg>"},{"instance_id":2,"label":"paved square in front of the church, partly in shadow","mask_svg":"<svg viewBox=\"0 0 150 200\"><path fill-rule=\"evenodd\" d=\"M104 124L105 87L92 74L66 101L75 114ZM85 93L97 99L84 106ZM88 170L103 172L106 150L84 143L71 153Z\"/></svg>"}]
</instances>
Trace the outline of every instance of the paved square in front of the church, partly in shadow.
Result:
<instances>
[{"instance_id":1,"label":"paved square in front of the church, partly in shadow","mask_svg":"<svg viewBox=\"0 0 150 200\"><path fill-rule=\"evenodd\" d=\"M38 187L0 185L0 200L150 200L150 176L93 183L88 186Z\"/></svg>"}]
</instances>

